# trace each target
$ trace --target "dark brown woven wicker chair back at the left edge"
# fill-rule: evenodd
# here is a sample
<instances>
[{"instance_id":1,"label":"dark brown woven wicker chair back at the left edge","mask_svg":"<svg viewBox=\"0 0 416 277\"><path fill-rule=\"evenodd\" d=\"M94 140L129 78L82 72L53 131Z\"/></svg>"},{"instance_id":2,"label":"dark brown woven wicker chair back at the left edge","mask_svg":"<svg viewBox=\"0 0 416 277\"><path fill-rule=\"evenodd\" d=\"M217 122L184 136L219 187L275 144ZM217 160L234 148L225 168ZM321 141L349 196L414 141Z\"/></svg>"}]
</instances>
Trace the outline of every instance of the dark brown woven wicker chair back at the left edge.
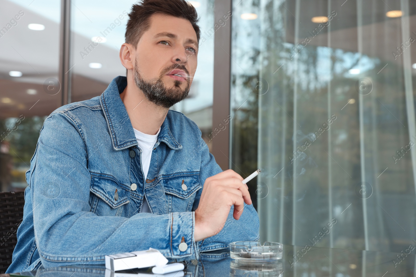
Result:
<instances>
[{"instance_id":1,"label":"dark brown woven wicker chair back at the left edge","mask_svg":"<svg viewBox=\"0 0 416 277\"><path fill-rule=\"evenodd\" d=\"M25 192L0 192L0 274L12 263L17 228L23 218Z\"/></svg>"}]
</instances>

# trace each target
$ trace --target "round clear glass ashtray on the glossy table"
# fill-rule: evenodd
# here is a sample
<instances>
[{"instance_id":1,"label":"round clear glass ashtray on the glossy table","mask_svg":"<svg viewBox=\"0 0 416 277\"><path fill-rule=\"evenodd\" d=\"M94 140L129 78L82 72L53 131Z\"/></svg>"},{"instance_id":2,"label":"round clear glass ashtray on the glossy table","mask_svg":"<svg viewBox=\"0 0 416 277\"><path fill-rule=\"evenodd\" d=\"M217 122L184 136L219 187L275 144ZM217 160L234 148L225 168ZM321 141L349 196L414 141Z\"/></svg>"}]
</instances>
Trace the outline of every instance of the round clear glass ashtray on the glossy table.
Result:
<instances>
[{"instance_id":1,"label":"round clear glass ashtray on the glossy table","mask_svg":"<svg viewBox=\"0 0 416 277\"><path fill-rule=\"evenodd\" d=\"M230 243L230 257L235 260L266 261L280 260L282 258L283 245L265 241L261 245L258 241L237 241Z\"/></svg>"}]
</instances>

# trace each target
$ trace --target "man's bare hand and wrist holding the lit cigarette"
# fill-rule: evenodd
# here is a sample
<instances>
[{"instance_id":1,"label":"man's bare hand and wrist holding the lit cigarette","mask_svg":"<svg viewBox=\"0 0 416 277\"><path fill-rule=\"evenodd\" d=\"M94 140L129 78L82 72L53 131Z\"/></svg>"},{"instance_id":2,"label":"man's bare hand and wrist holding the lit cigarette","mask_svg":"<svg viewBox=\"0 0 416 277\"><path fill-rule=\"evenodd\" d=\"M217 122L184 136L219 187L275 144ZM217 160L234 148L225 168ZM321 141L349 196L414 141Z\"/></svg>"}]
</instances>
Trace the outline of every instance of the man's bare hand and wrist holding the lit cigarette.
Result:
<instances>
[{"instance_id":1,"label":"man's bare hand and wrist holding the lit cigarette","mask_svg":"<svg viewBox=\"0 0 416 277\"><path fill-rule=\"evenodd\" d=\"M209 238L225 225L231 206L238 220L243 213L244 202L251 205L248 186L243 177L232 169L225 170L205 180L198 208L195 211L195 241Z\"/></svg>"}]
</instances>

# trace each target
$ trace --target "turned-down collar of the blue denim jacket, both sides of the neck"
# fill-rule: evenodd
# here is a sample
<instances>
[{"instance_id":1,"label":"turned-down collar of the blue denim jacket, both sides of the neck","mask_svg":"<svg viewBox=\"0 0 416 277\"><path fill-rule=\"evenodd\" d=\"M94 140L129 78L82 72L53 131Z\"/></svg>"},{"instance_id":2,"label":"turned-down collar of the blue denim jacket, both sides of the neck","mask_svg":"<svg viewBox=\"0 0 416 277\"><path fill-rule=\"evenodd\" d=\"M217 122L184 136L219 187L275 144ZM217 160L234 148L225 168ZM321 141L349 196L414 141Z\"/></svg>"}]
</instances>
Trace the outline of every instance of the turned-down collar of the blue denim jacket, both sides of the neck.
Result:
<instances>
[{"instance_id":1,"label":"turned-down collar of the blue denim jacket, both sides of the neck","mask_svg":"<svg viewBox=\"0 0 416 277\"><path fill-rule=\"evenodd\" d=\"M126 86L127 78L117 76L100 96L101 107L104 111L114 150L123 150L138 145L126 107L120 98L120 93L124 91ZM163 141L171 149L178 150L182 148L182 145L173 137L169 129L171 124L170 117L166 116L157 141Z\"/></svg>"}]
</instances>

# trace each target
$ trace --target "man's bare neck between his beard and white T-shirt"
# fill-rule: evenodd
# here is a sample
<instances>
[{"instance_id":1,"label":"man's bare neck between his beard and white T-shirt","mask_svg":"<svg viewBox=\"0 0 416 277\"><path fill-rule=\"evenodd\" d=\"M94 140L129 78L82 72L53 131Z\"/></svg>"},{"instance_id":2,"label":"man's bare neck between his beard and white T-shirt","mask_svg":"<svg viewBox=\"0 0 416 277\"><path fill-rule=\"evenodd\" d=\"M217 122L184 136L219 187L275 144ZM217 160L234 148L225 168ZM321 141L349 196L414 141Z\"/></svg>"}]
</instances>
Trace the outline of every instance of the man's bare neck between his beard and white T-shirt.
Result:
<instances>
[{"instance_id":1,"label":"man's bare neck between his beard and white T-shirt","mask_svg":"<svg viewBox=\"0 0 416 277\"><path fill-rule=\"evenodd\" d=\"M169 109L147 100L144 93L137 88L133 78L130 76L131 74L127 77L127 86L120 93L120 98L126 107L131 125L142 133L156 135Z\"/></svg>"}]
</instances>

